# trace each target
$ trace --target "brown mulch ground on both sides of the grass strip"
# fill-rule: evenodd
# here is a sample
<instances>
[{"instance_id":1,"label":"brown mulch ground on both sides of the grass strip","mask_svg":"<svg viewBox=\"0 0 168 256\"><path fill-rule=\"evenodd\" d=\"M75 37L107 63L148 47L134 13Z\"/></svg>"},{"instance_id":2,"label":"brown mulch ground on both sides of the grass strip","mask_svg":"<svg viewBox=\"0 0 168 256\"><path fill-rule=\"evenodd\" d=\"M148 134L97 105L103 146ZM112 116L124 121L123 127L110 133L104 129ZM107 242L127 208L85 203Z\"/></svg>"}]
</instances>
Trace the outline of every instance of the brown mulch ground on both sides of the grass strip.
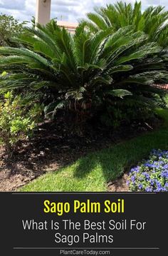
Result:
<instances>
[{"instance_id":1,"label":"brown mulch ground on both sides of the grass strip","mask_svg":"<svg viewBox=\"0 0 168 256\"><path fill-rule=\"evenodd\" d=\"M48 171L56 171L73 163L87 153L108 148L120 141L133 138L141 133L159 127L157 118L147 123L137 122L132 126L122 126L117 130L90 124L83 134L63 123L43 123L31 140L21 141L19 148L11 160L0 148L0 191L14 191L38 178ZM125 185L127 175L122 179L109 183L109 191L128 190Z\"/></svg>"}]
</instances>

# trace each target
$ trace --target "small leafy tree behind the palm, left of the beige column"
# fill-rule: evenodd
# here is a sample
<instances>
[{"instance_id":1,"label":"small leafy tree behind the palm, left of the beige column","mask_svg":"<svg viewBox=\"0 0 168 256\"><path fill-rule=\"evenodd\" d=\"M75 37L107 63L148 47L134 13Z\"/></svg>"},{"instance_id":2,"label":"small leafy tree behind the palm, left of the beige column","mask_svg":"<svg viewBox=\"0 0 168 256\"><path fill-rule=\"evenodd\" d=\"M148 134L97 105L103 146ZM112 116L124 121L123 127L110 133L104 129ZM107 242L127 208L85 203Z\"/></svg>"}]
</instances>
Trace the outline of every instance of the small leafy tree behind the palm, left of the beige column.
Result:
<instances>
[{"instance_id":1,"label":"small leafy tree behind the palm, left of the beige column","mask_svg":"<svg viewBox=\"0 0 168 256\"><path fill-rule=\"evenodd\" d=\"M20 23L13 16L6 14L0 15L0 46L14 46L11 37L23 32L26 21Z\"/></svg>"}]
</instances>

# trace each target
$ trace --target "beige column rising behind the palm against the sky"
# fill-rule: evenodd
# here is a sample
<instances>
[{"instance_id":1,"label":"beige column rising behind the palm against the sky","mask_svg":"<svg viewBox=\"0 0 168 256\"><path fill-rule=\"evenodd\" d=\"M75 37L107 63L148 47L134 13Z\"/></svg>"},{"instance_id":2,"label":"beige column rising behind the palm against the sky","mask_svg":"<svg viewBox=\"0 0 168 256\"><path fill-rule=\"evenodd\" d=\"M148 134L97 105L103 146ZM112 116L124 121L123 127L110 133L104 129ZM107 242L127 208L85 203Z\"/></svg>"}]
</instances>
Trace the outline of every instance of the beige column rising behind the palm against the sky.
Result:
<instances>
[{"instance_id":1,"label":"beige column rising behind the palm against the sky","mask_svg":"<svg viewBox=\"0 0 168 256\"><path fill-rule=\"evenodd\" d=\"M36 23L46 25L50 21L51 0L36 0Z\"/></svg>"}]
</instances>

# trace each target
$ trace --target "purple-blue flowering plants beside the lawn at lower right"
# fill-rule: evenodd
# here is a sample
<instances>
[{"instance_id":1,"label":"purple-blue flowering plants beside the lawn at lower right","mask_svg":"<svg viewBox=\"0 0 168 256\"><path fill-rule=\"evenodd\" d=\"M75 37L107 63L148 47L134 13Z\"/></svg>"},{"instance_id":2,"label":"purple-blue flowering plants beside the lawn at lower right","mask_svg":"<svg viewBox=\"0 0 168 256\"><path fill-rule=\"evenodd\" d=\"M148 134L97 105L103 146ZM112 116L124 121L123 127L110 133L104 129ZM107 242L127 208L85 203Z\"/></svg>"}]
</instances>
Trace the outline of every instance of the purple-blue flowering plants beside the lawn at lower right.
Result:
<instances>
[{"instance_id":1,"label":"purple-blue flowering plants beside the lawn at lower right","mask_svg":"<svg viewBox=\"0 0 168 256\"><path fill-rule=\"evenodd\" d=\"M152 150L148 160L130 170L127 185L132 191L168 191L168 150Z\"/></svg>"}]
</instances>

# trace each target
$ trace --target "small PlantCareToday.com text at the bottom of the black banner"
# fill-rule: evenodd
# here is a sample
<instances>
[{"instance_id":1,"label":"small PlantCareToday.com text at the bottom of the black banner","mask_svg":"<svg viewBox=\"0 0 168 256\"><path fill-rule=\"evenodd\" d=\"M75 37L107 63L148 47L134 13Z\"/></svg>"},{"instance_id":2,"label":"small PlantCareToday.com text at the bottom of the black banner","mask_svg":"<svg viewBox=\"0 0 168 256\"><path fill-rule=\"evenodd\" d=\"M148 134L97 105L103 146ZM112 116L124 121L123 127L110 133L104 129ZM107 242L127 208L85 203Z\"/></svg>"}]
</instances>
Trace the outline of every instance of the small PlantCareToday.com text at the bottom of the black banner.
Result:
<instances>
[{"instance_id":1,"label":"small PlantCareToday.com text at the bottom of the black banner","mask_svg":"<svg viewBox=\"0 0 168 256\"><path fill-rule=\"evenodd\" d=\"M60 255L110 255L109 250L60 250Z\"/></svg>"}]
</instances>

